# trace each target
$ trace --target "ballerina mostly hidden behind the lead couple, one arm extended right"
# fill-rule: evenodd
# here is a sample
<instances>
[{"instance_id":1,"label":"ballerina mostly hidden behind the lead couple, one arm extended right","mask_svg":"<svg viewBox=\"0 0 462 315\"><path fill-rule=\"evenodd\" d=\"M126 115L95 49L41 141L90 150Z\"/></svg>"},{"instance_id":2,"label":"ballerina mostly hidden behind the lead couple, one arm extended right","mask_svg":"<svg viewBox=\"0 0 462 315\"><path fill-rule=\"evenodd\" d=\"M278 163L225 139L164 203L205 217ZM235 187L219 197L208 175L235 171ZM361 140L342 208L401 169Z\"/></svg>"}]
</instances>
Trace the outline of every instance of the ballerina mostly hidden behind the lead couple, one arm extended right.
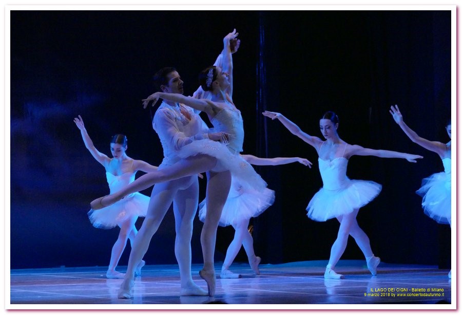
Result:
<instances>
[{"instance_id":1,"label":"ballerina mostly hidden behind the lead couple, one arm extended right","mask_svg":"<svg viewBox=\"0 0 462 315\"><path fill-rule=\"evenodd\" d=\"M288 163L299 162L311 168L311 163L307 159L299 157L277 157L277 158L259 158L254 155L241 155L244 160L253 165L282 165ZM251 217L259 216L274 202L274 191L265 189L262 192L255 190L246 190L242 187L238 180L231 179L231 189L226 199L226 203L221 213L219 221L220 226L233 226L235 229L234 239L229 244L226 251L225 260L221 267L220 277L222 279L236 279L241 275L229 270L233 264L236 255L239 253L241 246L244 246L247 254L248 263L255 274L260 274L258 265L261 258L255 255L254 240L251 233L248 231L248 224ZM199 219L204 221L207 214L207 203L203 200L199 204Z\"/></svg>"}]
</instances>

